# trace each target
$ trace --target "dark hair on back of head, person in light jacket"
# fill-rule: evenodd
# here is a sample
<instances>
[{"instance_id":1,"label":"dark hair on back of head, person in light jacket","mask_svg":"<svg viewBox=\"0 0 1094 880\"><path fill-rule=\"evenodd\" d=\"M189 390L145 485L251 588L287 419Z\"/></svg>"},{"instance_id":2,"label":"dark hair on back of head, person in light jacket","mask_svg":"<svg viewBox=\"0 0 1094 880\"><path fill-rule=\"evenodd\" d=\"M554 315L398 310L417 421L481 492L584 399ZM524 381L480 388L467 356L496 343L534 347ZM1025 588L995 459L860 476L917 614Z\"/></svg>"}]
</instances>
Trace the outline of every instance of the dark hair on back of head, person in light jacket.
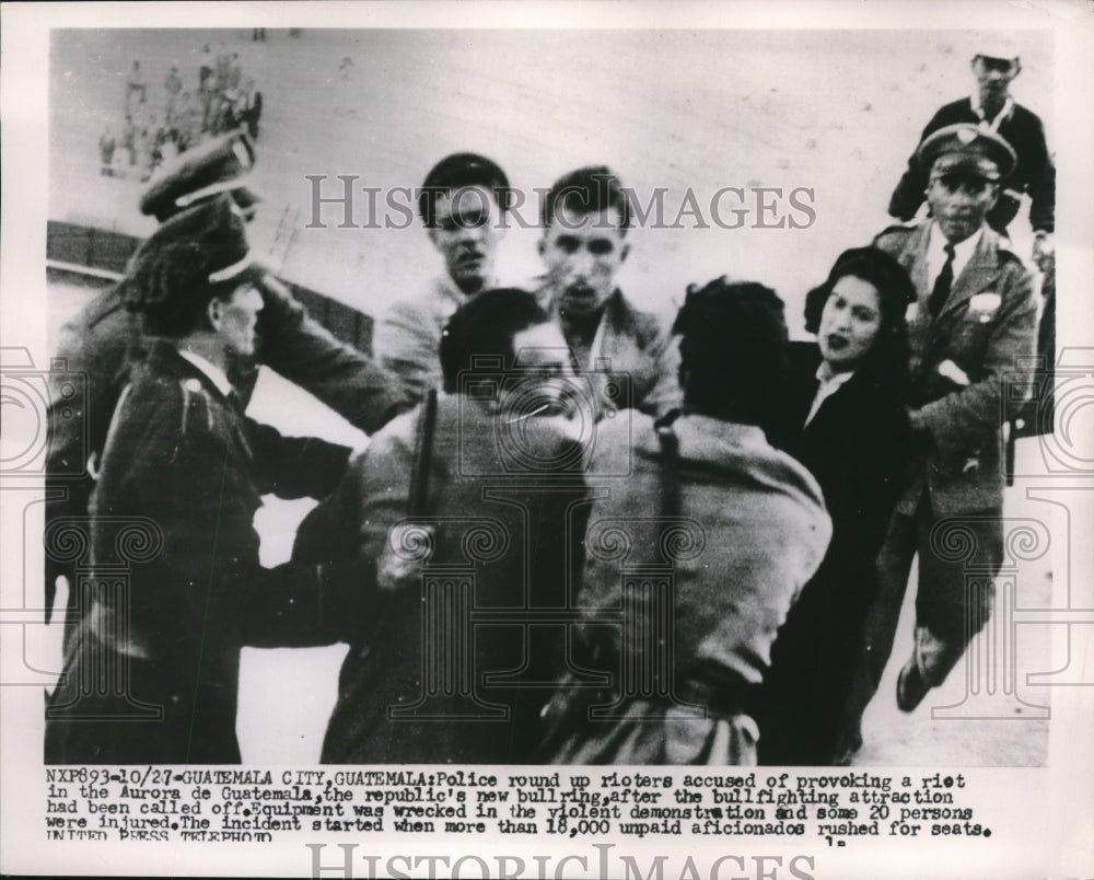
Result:
<instances>
[{"instance_id":1,"label":"dark hair on back of head, person in light jacket","mask_svg":"<svg viewBox=\"0 0 1094 880\"><path fill-rule=\"evenodd\" d=\"M755 281L717 278L689 290L676 315L687 412L725 421L778 424L789 385L782 300Z\"/></svg>"}]
</instances>

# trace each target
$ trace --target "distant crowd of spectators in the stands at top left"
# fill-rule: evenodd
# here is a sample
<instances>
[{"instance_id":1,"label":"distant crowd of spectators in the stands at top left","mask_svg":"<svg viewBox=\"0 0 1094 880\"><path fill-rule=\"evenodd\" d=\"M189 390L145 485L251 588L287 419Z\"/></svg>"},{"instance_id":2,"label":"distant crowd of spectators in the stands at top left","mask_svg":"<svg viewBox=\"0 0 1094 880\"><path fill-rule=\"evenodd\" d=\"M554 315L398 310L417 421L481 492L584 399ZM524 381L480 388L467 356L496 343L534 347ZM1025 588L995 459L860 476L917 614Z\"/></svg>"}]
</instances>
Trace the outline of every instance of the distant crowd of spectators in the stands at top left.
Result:
<instances>
[{"instance_id":1,"label":"distant crowd of spectators in the stands at top left","mask_svg":"<svg viewBox=\"0 0 1094 880\"><path fill-rule=\"evenodd\" d=\"M205 44L196 73L194 82L172 65L162 93L150 94L141 62L133 60L125 80L123 123L107 125L98 138L103 175L147 181L209 137L243 128L257 139L263 94L245 76L238 53L220 46L213 54Z\"/></svg>"}]
</instances>

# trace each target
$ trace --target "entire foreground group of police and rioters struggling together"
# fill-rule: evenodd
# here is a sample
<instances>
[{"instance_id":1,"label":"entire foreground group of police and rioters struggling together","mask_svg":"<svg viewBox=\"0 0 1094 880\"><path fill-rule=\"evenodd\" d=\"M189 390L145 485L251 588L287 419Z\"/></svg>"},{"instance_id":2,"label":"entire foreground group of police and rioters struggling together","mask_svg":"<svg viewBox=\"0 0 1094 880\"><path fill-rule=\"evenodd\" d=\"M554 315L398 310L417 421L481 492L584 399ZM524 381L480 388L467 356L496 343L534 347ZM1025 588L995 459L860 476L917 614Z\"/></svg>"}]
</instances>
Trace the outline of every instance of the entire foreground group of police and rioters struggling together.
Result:
<instances>
[{"instance_id":1,"label":"entire foreground group of police and rioters struggling together","mask_svg":"<svg viewBox=\"0 0 1094 880\"><path fill-rule=\"evenodd\" d=\"M1051 248L1048 151L1016 177L1031 160L999 124L1019 69L976 56L982 118L929 126L909 162L929 216L839 255L806 297L811 343L759 281L689 285L671 324L637 308L606 166L554 183L544 274L499 286L510 182L456 153L418 198L444 270L381 316L370 357L252 260L245 135L177 165L141 202L156 232L59 352L90 387L50 419L47 600L73 589L47 762L238 762L241 648L334 641L327 763L852 761L912 560L901 710L991 613L990 575L967 591L931 536L961 518L998 570L1002 421L1029 397L1040 309L992 213L1005 187L1040 181ZM370 433L363 454L248 419L260 363ZM319 501L276 568L265 494ZM78 568L50 548L89 522ZM119 587L135 522L162 546Z\"/></svg>"}]
</instances>

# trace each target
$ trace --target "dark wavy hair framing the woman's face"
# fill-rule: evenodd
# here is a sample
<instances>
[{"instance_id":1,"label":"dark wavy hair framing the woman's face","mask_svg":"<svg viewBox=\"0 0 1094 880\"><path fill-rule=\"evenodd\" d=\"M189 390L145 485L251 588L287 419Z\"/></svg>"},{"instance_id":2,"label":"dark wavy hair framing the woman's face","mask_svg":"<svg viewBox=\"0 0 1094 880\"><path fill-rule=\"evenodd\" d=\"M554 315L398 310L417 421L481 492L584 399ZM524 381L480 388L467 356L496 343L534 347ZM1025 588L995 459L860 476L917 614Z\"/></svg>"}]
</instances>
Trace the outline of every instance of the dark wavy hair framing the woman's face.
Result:
<instances>
[{"instance_id":1,"label":"dark wavy hair framing the woman's face","mask_svg":"<svg viewBox=\"0 0 1094 880\"><path fill-rule=\"evenodd\" d=\"M859 369L876 371L878 379L896 382L903 391L908 381L908 326L905 313L916 302L916 286L896 258L876 247L852 247L836 259L828 278L805 294L805 329L817 333L821 315L833 288L841 278L860 278L877 290L881 326Z\"/></svg>"}]
</instances>

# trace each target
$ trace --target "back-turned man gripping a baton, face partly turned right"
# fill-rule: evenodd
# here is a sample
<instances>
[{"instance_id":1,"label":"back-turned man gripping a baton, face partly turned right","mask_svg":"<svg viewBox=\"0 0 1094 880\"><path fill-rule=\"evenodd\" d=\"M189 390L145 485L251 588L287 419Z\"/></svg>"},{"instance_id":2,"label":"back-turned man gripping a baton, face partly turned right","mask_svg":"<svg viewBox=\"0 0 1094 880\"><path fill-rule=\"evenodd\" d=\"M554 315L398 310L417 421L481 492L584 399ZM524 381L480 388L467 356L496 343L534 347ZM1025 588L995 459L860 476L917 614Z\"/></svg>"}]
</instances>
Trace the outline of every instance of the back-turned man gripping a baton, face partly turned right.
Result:
<instances>
[{"instance_id":1,"label":"back-turned man gripping a baton, face partly turned right","mask_svg":"<svg viewBox=\"0 0 1094 880\"><path fill-rule=\"evenodd\" d=\"M339 509L325 521L359 530L364 558L432 530L423 591L388 594L350 646L325 763L526 763L558 674L527 610L565 604L579 551L567 523L584 498L582 450L552 417L566 343L534 294L494 289L452 316L440 360L444 392L376 433L324 502ZM337 555L329 531L298 540L293 558Z\"/></svg>"}]
</instances>

